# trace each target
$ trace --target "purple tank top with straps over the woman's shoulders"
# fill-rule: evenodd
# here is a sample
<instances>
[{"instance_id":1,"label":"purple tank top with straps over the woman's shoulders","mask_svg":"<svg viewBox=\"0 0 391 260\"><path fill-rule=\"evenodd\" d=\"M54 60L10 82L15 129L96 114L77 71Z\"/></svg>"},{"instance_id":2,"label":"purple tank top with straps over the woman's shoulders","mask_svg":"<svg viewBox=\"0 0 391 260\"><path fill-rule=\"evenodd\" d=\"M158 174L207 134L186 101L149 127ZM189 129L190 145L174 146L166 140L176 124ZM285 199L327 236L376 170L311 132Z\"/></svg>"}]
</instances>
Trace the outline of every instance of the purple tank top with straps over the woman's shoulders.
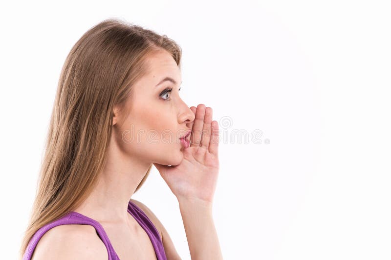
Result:
<instances>
[{"instance_id":1,"label":"purple tank top with straps over the woman's shoulders","mask_svg":"<svg viewBox=\"0 0 391 260\"><path fill-rule=\"evenodd\" d=\"M148 237L151 239L153 248L155 250L157 260L167 260L166 254L164 252L163 243L160 240L159 232L157 231L156 227L153 225L152 221L147 217L147 215L145 215L145 213L136 204L134 204L130 200L128 203L128 212L130 213L131 216L133 216L135 220L137 220L137 222L145 230L145 232L147 232ZM117 253L115 253L114 248L110 243L109 237L107 236L102 225L98 221L88 218L87 216L84 216L75 211L71 211L68 214L66 214L64 217L52 221L44 225L42 228L38 229L27 245L26 251L24 252L23 255L23 260L31 260L31 257L34 253L34 249L38 244L38 241L49 229L58 225L65 225L65 224L82 224L82 225L93 226L96 229L99 238L103 241L103 243L107 248L109 260L120 260Z\"/></svg>"}]
</instances>

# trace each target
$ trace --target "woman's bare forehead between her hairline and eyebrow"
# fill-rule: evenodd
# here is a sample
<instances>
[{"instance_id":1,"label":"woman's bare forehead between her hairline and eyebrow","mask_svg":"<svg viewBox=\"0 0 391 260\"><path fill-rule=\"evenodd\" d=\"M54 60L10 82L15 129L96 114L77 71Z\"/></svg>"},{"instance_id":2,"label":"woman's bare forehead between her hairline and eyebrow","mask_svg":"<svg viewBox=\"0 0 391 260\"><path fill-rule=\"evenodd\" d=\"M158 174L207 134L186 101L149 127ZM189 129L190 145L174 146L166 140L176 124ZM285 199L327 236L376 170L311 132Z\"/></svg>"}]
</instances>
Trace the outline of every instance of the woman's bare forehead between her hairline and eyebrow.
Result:
<instances>
[{"instance_id":1,"label":"woman's bare forehead between her hairline and eyebrow","mask_svg":"<svg viewBox=\"0 0 391 260\"><path fill-rule=\"evenodd\" d=\"M155 86L160 80L166 77L173 78L176 82L181 82L181 75L174 58L167 51L159 51L151 55L148 59L147 80Z\"/></svg>"}]
</instances>

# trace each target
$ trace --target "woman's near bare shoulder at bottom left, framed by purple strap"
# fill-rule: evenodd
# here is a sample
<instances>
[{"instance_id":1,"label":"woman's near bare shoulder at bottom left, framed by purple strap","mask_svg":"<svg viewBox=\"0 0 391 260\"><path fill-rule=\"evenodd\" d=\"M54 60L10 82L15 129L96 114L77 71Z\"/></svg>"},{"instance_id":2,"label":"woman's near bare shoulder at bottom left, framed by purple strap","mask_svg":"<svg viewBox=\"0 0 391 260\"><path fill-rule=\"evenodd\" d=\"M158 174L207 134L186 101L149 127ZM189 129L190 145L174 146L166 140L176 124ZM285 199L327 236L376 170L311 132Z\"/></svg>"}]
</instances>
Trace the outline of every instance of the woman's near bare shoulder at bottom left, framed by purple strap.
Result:
<instances>
[{"instance_id":1,"label":"woman's near bare shoulder at bottom left, framed by purple strap","mask_svg":"<svg viewBox=\"0 0 391 260\"><path fill-rule=\"evenodd\" d=\"M107 260L105 244L91 225L65 224L49 229L34 250L31 260Z\"/></svg>"}]
</instances>

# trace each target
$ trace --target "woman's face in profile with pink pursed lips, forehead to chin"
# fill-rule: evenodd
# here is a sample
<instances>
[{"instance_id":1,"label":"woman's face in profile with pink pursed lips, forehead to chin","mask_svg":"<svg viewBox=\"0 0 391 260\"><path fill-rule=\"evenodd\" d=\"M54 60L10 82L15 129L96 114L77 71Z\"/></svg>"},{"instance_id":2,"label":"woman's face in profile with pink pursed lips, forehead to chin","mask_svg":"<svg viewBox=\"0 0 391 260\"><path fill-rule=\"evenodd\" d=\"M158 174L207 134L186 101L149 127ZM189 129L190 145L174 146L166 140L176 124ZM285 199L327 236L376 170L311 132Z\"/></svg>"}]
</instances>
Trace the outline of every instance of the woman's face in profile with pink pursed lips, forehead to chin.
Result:
<instances>
[{"instance_id":1,"label":"woman's face in profile with pink pursed lips, forehead to chin","mask_svg":"<svg viewBox=\"0 0 391 260\"><path fill-rule=\"evenodd\" d=\"M127 155L146 162L177 165L183 159L184 149L179 138L190 129L195 114L180 98L180 70L171 55L158 52L148 62L149 72L133 85L133 95L118 113L113 134Z\"/></svg>"}]
</instances>

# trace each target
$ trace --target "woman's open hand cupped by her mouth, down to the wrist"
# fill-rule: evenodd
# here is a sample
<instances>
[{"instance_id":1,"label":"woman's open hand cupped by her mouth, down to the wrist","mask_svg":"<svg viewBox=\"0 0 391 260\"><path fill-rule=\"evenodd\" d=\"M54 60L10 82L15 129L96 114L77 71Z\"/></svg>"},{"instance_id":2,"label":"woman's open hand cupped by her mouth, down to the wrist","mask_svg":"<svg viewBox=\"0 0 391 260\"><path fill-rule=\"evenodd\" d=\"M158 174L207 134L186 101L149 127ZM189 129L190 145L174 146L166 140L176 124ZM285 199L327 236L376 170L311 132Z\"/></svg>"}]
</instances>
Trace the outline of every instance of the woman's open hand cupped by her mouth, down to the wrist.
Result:
<instances>
[{"instance_id":1,"label":"woman's open hand cupped by her mouth, down to the wrist","mask_svg":"<svg viewBox=\"0 0 391 260\"><path fill-rule=\"evenodd\" d=\"M212 120L212 108L199 104L195 113L190 146L183 150L180 164L153 163L178 200L212 203L218 176L218 122Z\"/></svg>"}]
</instances>

